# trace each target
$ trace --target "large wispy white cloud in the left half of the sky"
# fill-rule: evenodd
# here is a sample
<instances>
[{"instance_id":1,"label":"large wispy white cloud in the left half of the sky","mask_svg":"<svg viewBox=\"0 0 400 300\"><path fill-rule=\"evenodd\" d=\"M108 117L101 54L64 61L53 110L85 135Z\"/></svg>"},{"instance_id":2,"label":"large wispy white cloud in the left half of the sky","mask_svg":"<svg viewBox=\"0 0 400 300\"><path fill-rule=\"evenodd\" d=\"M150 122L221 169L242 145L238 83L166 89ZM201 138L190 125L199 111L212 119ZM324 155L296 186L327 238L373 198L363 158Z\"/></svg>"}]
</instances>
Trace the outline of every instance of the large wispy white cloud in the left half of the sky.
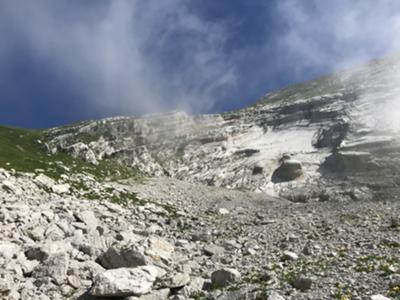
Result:
<instances>
[{"instance_id":1,"label":"large wispy white cloud in the left half of the sky","mask_svg":"<svg viewBox=\"0 0 400 300\"><path fill-rule=\"evenodd\" d=\"M93 109L208 110L235 83L223 24L200 19L187 1L6 3L0 5L0 33L9 46L0 49L2 56L23 44Z\"/></svg>"}]
</instances>

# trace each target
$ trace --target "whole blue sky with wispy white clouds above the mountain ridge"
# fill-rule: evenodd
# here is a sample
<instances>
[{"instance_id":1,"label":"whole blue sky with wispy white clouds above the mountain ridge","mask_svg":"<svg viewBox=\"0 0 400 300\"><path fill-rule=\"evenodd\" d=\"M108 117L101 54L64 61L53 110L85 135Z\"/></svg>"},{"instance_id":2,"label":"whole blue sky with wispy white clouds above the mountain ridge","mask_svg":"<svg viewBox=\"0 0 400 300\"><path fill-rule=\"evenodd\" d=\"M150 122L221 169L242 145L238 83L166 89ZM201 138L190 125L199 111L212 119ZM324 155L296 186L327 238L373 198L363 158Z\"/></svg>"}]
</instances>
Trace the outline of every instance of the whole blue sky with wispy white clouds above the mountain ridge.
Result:
<instances>
[{"instance_id":1,"label":"whole blue sky with wispy white clouds above the mountain ridge","mask_svg":"<svg viewBox=\"0 0 400 300\"><path fill-rule=\"evenodd\" d=\"M245 107L399 49L398 0L4 0L0 124Z\"/></svg>"}]
</instances>

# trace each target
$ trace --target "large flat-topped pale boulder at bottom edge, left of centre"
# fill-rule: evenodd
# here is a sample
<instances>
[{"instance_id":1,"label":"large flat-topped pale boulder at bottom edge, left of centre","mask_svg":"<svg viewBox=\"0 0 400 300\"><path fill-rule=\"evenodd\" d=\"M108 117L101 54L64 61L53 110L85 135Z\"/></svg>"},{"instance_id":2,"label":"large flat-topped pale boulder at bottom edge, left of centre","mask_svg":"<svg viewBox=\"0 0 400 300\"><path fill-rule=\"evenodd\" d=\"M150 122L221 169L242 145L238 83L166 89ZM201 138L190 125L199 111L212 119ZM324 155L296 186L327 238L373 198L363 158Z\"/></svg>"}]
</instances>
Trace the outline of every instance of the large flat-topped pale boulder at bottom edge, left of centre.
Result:
<instances>
[{"instance_id":1,"label":"large flat-topped pale boulder at bottom edge, left of centre","mask_svg":"<svg viewBox=\"0 0 400 300\"><path fill-rule=\"evenodd\" d=\"M97 275L90 290L93 296L128 297L150 293L158 270L153 266L120 268Z\"/></svg>"}]
</instances>

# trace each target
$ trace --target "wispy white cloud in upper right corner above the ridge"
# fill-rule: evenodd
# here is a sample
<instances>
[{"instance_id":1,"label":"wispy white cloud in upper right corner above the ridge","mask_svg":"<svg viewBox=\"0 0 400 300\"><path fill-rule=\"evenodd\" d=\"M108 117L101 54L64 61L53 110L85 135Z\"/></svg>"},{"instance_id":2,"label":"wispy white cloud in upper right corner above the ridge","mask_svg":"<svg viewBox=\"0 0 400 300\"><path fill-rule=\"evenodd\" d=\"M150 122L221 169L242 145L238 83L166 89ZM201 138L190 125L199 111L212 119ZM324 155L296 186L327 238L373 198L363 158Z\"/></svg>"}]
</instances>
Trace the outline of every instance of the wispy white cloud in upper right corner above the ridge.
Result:
<instances>
[{"instance_id":1,"label":"wispy white cloud in upper right corner above the ridge","mask_svg":"<svg viewBox=\"0 0 400 300\"><path fill-rule=\"evenodd\" d=\"M400 2L336 0L277 2L286 26L277 47L301 78L307 70L334 71L400 49Z\"/></svg>"}]
</instances>

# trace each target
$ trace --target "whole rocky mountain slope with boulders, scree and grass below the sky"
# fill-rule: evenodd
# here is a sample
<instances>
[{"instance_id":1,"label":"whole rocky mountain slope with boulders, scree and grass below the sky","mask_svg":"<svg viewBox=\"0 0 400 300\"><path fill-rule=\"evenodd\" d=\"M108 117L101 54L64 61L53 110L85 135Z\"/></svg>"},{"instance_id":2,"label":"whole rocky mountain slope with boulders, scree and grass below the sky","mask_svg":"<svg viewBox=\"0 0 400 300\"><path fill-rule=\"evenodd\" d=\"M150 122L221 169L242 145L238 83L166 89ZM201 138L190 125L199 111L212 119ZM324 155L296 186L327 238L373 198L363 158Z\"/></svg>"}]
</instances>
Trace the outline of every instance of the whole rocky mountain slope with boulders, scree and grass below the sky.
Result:
<instances>
[{"instance_id":1,"label":"whole rocky mountain slope with boulders, scree and grass below the sky","mask_svg":"<svg viewBox=\"0 0 400 300\"><path fill-rule=\"evenodd\" d=\"M399 68L0 127L0 299L400 299Z\"/></svg>"}]
</instances>

